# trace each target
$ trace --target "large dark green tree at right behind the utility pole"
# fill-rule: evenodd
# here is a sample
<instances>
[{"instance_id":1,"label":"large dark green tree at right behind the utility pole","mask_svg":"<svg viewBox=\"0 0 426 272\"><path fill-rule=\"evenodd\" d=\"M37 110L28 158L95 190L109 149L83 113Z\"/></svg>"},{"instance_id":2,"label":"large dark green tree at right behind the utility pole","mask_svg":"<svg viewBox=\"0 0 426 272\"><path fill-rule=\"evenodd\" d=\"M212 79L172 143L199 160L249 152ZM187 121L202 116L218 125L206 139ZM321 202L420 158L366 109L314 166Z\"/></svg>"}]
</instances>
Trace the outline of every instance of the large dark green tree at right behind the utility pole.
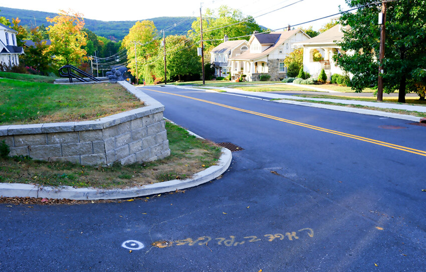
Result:
<instances>
[{"instance_id":1,"label":"large dark green tree at right behind the utility pole","mask_svg":"<svg viewBox=\"0 0 426 272\"><path fill-rule=\"evenodd\" d=\"M360 7L368 0L346 0L350 7ZM339 45L353 54L333 58L347 72L353 74L352 89L361 92L377 85L380 26L377 14L380 5L358 9L340 18L344 38ZM383 59L383 87L386 93L399 89L398 102L405 102L405 93L419 92L418 71L426 66L426 5L424 0L387 3L385 56Z\"/></svg>"}]
</instances>

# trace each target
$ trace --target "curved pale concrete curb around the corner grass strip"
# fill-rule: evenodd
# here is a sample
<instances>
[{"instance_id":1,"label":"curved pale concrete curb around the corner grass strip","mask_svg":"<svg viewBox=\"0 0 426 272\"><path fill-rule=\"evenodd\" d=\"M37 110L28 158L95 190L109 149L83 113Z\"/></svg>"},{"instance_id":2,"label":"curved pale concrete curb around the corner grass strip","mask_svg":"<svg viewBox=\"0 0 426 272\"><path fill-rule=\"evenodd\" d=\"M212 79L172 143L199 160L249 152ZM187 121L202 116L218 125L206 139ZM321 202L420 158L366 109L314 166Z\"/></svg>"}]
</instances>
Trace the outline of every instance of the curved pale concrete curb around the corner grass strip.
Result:
<instances>
[{"instance_id":1,"label":"curved pale concrete curb around the corner grass strip","mask_svg":"<svg viewBox=\"0 0 426 272\"><path fill-rule=\"evenodd\" d=\"M192 178L169 180L144 186L126 189L74 188L71 186L51 187L22 183L0 183L0 195L6 197L46 197L55 199L96 200L130 198L144 195L172 192L206 183L222 175L230 166L232 154L229 149L222 148L222 156L218 165L196 173Z\"/></svg>"}]
</instances>

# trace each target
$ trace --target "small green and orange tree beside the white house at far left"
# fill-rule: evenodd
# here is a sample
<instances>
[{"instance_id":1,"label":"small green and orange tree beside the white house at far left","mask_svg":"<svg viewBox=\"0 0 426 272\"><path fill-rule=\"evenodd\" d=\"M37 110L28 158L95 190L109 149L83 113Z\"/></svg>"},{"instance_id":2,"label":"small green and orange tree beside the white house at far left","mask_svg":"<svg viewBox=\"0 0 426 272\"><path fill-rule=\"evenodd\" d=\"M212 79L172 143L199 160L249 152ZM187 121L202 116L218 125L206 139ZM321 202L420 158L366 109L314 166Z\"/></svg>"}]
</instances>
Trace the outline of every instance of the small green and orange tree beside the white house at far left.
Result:
<instances>
[{"instance_id":1,"label":"small green and orange tree beside the white house at far left","mask_svg":"<svg viewBox=\"0 0 426 272\"><path fill-rule=\"evenodd\" d=\"M52 60L50 56L43 54L49 46L46 45L43 33L39 31L39 27L30 31L30 39L34 42L34 46L25 50L25 55L22 57L23 62L26 66L33 67L45 75L49 74L52 70Z\"/></svg>"}]
</instances>

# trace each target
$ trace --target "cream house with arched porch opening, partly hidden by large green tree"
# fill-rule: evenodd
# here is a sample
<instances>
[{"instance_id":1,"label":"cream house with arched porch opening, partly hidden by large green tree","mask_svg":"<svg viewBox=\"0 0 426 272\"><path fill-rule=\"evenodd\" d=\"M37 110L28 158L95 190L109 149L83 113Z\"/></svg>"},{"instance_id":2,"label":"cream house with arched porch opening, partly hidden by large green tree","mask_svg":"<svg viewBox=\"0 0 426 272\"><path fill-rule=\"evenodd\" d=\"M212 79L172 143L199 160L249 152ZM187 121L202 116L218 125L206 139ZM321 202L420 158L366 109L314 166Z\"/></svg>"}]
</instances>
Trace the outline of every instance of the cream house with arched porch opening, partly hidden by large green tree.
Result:
<instances>
[{"instance_id":1,"label":"cream house with arched porch opening, partly hidden by large green tree","mask_svg":"<svg viewBox=\"0 0 426 272\"><path fill-rule=\"evenodd\" d=\"M333 61L333 55L345 53L336 44L342 39L342 26L336 25L312 39L296 44L295 46L303 47L303 70L317 78L324 69L329 80L333 74L343 74L340 67ZM315 53L320 53L322 57L315 58Z\"/></svg>"}]
</instances>

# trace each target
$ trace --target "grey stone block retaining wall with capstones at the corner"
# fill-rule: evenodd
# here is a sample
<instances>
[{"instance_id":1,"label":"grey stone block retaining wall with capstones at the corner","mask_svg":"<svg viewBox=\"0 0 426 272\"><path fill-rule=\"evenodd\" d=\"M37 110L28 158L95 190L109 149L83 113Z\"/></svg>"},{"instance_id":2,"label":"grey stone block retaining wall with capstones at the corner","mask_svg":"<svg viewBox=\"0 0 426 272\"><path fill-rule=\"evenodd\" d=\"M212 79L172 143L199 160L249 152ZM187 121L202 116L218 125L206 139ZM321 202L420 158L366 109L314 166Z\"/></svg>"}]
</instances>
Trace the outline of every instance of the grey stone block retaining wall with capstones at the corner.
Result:
<instances>
[{"instance_id":1,"label":"grey stone block retaining wall with capstones at the corner","mask_svg":"<svg viewBox=\"0 0 426 272\"><path fill-rule=\"evenodd\" d=\"M170 155L164 106L127 82L118 82L145 107L94 121L0 126L10 156L82 165L152 161Z\"/></svg>"}]
</instances>

